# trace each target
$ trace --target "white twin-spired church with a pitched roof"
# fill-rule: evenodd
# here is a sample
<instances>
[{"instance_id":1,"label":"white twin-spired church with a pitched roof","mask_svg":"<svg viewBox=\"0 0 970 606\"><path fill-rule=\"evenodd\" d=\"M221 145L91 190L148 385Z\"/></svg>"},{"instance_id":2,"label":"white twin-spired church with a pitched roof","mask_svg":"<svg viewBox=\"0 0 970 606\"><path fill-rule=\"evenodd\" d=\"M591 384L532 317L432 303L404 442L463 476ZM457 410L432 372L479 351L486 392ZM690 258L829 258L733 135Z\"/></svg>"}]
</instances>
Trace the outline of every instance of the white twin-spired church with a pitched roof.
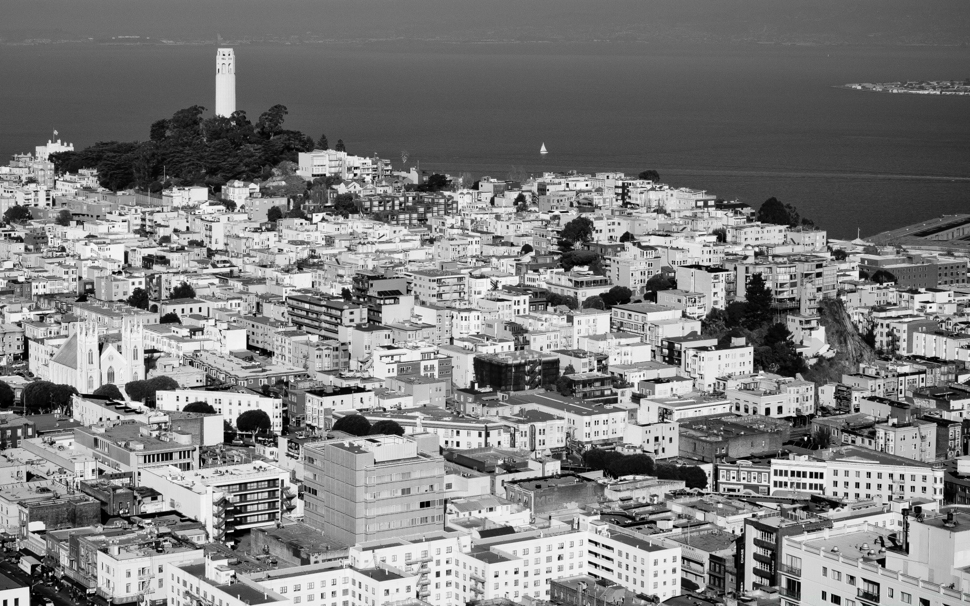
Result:
<instances>
[{"instance_id":1,"label":"white twin-spired church with a pitched roof","mask_svg":"<svg viewBox=\"0 0 970 606\"><path fill-rule=\"evenodd\" d=\"M145 379L142 322L138 317L122 318L120 334L105 334L104 327L99 330L90 320L72 322L67 340L50 359L49 381L90 394L107 383L122 388Z\"/></svg>"}]
</instances>

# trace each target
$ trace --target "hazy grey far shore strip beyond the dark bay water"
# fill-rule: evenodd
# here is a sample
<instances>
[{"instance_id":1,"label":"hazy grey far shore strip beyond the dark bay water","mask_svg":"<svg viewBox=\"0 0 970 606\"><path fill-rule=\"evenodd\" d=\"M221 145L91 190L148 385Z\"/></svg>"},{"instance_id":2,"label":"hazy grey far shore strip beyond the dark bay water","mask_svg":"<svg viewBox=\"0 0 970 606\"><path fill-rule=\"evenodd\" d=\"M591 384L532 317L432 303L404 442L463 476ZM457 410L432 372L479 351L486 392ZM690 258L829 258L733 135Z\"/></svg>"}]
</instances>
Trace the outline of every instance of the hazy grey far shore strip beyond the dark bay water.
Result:
<instances>
[{"instance_id":1,"label":"hazy grey far shore strip beyond the dark bay water","mask_svg":"<svg viewBox=\"0 0 970 606\"><path fill-rule=\"evenodd\" d=\"M967 44L966 0L8 0L0 41L150 36Z\"/></svg>"}]
</instances>

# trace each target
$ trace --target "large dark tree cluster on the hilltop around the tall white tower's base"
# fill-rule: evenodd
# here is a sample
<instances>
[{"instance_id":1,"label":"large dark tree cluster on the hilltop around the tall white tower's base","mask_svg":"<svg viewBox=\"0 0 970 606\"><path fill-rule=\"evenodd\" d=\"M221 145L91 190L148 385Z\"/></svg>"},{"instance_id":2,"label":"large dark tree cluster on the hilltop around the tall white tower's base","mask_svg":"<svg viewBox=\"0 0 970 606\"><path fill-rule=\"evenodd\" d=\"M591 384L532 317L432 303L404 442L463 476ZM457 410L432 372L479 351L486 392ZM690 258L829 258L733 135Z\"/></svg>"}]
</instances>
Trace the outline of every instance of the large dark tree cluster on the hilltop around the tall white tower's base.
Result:
<instances>
[{"instance_id":1,"label":"large dark tree cluster on the hilltop around the tall white tower's base","mask_svg":"<svg viewBox=\"0 0 970 606\"><path fill-rule=\"evenodd\" d=\"M275 165L295 161L299 152L315 146L307 135L283 128L285 106L273 106L255 124L242 110L228 117L204 118L205 112L196 105L156 120L146 142L98 142L52 153L50 160L57 172L96 168L101 185L113 191L158 191L168 185L221 187L232 179L265 179ZM163 175L165 183L159 180Z\"/></svg>"}]
</instances>

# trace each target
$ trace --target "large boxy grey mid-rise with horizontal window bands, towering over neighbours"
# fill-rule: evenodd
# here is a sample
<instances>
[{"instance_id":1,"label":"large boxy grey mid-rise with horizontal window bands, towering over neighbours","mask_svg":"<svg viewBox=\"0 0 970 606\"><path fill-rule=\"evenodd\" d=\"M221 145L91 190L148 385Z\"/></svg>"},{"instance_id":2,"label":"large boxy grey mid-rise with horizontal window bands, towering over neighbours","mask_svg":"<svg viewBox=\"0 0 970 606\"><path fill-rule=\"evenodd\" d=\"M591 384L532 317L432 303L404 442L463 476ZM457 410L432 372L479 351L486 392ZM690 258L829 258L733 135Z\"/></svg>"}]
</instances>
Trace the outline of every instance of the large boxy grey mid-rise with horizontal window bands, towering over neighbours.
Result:
<instances>
[{"instance_id":1,"label":"large boxy grey mid-rise with horizontal window bands, towering over neighbours","mask_svg":"<svg viewBox=\"0 0 970 606\"><path fill-rule=\"evenodd\" d=\"M444 458L435 433L307 444L305 522L346 545L440 530Z\"/></svg>"}]
</instances>

